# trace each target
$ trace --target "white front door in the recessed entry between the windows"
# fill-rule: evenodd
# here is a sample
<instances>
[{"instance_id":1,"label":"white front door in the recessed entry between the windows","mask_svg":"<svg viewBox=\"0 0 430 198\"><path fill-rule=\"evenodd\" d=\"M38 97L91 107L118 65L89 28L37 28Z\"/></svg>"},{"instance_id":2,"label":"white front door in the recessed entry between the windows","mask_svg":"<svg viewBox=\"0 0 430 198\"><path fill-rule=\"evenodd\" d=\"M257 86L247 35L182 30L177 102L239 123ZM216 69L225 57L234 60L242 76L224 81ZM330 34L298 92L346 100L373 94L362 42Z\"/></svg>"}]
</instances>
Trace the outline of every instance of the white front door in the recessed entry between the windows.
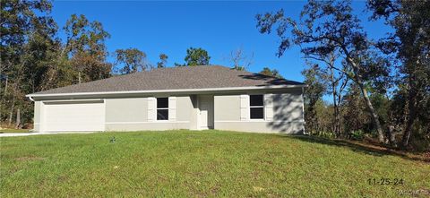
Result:
<instances>
[{"instance_id":1,"label":"white front door in the recessed entry between the windows","mask_svg":"<svg viewBox=\"0 0 430 198\"><path fill-rule=\"evenodd\" d=\"M200 96L200 128L213 128L213 96Z\"/></svg>"}]
</instances>

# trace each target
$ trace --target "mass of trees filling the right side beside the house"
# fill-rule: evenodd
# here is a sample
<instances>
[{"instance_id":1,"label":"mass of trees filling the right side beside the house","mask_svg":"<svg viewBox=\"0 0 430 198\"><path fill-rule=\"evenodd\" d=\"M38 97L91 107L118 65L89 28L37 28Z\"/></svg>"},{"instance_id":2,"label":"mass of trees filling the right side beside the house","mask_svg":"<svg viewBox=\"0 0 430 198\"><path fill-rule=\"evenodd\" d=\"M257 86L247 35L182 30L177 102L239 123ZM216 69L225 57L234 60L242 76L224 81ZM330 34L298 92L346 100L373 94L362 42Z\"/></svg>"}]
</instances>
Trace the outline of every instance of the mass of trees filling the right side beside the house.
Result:
<instances>
[{"instance_id":1,"label":"mass of trees filling the right side beside the house","mask_svg":"<svg viewBox=\"0 0 430 198\"><path fill-rule=\"evenodd\" d=\"M274 31L280 38L276 56L297 46L310 65L303 74L311 133L368 133L393 147L401 141L403 149L412 138L417 149L430 146L430 114L423 110L430 101L429 10L428 1L367 1L369 22L382 19L393 29L379 40L369 39L350 1L310 0L298 21L283 10L256 19L261 33Z\"/></svg>"}]
</instances>

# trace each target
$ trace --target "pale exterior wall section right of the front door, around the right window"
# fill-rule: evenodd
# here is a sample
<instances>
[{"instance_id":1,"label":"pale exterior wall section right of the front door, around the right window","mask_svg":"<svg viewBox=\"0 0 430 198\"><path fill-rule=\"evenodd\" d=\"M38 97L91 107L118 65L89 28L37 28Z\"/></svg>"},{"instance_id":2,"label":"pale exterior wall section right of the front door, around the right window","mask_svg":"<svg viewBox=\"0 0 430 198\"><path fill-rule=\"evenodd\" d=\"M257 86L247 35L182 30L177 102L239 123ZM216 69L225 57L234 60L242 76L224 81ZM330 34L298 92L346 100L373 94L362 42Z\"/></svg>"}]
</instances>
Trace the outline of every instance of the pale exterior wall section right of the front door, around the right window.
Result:
<instances>
[{"instance_id":1,"label":"pale exterior wall section right of the front door, around the right window","mask_svg":"<svg viewBox=\"0 0 430 198\"><path fill-rule=\"evenodd\" d=\"M245 95L250 94L264 94L270 98L273 113L271 119L267 117L250 119L249 113L244 119L243 115L241 116L241 95L244 94L216 95L214 97L214 128L258 133L304 133L302 90L288 90L282 93L248 92ZM268 109L265 109L265 112L268 112Z\"/></svg>"}]
</instances>

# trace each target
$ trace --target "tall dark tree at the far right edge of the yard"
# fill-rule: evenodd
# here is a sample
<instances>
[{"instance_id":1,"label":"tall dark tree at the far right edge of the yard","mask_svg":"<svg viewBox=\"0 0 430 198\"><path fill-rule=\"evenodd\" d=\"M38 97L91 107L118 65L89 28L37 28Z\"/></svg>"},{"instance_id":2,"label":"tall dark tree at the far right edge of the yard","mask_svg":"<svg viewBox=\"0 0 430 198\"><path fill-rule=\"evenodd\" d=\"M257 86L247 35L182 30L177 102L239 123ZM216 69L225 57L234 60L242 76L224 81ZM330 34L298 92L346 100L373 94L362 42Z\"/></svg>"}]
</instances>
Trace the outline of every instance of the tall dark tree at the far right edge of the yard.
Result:
<instances>
[{"instance_id":1,"label":"tall dark tree at the far right edge of the yard","mask_svg":"<svg viewBox=\"0 0 430 198\"><path fill-rule=\"evenodd\" d=\"M399 100L393 104L406 109L400 115L406 115L402 147L407 148L414 131L430 134L430 115L423 110L430 108L430 1L371 0L367 7L374 13L372 19L384 18L394 29L378 47L399 60L400 78L394 97Z\"/></svg>"}]
</instances>

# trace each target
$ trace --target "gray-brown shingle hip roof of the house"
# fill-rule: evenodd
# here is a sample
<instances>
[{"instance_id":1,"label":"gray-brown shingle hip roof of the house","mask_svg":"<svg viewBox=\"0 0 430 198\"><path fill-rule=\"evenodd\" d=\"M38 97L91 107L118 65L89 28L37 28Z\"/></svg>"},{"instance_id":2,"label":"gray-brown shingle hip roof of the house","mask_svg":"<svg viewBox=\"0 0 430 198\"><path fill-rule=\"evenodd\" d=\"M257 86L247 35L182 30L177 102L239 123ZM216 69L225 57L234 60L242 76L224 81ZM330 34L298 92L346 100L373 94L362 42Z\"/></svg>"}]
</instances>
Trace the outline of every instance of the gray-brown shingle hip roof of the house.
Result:
<instances>
[{"instance_id":1,"label":"gray-brown shingle hip roof of the house","mask_svg":"<svg viewBox=\"0 0 430 198\"><path fill-rule=\"evenodd\" d=\"M304 83L274 78L258 73L236 71L219 65L203 65L159 68L149 72L114 76L99 81L74 84L52 90L44 90L31 95L128 90L207 89L271 85L304 85Z\"/></svg>"}]
</instances>

